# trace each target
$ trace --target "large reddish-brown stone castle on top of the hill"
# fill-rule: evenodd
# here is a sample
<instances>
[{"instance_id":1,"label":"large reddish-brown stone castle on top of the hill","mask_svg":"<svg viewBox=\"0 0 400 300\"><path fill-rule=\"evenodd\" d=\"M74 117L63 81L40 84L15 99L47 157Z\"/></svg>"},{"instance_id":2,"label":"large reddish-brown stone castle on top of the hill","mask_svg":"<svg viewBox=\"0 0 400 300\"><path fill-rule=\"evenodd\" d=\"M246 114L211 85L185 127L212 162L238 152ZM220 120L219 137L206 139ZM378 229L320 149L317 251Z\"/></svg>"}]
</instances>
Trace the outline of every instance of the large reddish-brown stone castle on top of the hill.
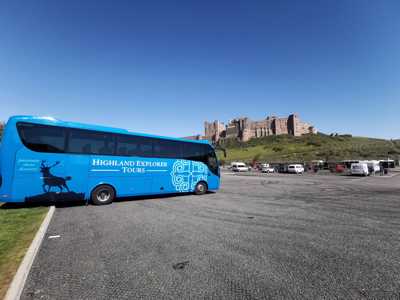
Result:
<instances>
[{"instance_id":1,"label":"large reddish-brown stone castle on top of the hill","mask_svg":"<svg viewBox=\"0 0 400 300\"><path fill-rule=\"evenodd\" d=\"M219 121L204 122L205 139L212 143L218 143L226 138L235 138L246 142L251 138L260 138L270 135L289 134L301 136L303 134L315 134L314 126L300 120L297 114L291 114L287 118L269 116L264 120L251 121L249 118L236 118L228 125Z\"/></svg>"}]
</instances>

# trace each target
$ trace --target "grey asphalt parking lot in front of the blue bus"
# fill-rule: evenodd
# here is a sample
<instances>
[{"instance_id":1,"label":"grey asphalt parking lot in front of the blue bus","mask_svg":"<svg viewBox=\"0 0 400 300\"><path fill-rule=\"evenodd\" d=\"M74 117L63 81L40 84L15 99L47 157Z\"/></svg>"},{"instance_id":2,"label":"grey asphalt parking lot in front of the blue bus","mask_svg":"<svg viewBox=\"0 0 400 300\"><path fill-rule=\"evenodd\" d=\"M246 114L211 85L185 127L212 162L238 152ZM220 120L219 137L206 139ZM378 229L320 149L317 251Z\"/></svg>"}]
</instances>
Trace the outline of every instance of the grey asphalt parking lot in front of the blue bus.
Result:
<instances>
[{"instance_id":1,"label":"grey asphalt parking lot in front of the blue bus","mask_svg":"<svg viewBox=\"0 0 400 300\"><path fill-rule=\"evenodd\" d=\"M399 299L400 176L57 208L22 299L143 298Z\"/></svg>"}]
</instances>

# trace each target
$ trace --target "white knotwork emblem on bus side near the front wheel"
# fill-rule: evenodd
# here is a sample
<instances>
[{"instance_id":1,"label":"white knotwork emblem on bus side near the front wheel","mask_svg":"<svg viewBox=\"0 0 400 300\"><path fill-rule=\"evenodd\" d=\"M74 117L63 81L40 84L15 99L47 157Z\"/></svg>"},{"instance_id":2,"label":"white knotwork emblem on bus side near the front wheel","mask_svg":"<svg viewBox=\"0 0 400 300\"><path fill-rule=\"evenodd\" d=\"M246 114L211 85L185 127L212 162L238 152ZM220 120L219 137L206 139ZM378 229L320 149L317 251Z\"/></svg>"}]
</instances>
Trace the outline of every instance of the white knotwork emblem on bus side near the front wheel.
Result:
<instances>
[{"instance_id":1,"label":"white knotwork emblem on bus side near the front wheel","mask_svg":"<svg viewBox=\"0 0 400 300\"><path fill-rule=\"evenodd\" d=\"M207 167L198 161L177 160L172 166L171 180L176 191L193 191L200 180L207 181Z\"/></svg>"}]
</instances>

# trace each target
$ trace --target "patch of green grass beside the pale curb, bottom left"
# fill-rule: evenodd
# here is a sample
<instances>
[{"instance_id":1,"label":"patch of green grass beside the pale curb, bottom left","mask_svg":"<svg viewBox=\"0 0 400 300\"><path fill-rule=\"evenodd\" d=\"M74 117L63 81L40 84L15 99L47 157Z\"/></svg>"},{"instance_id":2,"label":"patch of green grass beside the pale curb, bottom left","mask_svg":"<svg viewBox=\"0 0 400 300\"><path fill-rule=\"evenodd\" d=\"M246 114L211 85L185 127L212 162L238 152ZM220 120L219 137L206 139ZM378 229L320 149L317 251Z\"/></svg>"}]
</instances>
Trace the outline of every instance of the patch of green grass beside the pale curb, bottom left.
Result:
<instances>
[{"instance_id":1,"label":"patch of green grass beside the pale curb, bottom left","mask_svg":"<svg viewBox=\"0 0 400 300\"><path fill-rule=\"evenodd\" d=\"M48 208L9 208L0 204L0 299L18 269Z\"/></svg>"}]
</instances>

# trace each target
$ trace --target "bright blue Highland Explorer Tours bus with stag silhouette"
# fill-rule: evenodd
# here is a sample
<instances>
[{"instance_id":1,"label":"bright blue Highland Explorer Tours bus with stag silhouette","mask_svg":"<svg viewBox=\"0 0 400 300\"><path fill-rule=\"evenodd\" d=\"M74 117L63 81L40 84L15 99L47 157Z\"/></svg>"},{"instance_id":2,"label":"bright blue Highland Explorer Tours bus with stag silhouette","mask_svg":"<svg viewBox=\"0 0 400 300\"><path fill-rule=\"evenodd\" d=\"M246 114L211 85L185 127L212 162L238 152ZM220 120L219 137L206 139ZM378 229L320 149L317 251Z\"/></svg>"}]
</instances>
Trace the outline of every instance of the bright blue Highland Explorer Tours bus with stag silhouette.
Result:
<instances>
[{"instance_id":1,"label":"bright blue Highland Explorer Tours bus with stag silhouette","mask_svg":"<svg viewBox=\"0 0 400 300\"><path fill-rule=\"evenodd\" d=\"M213 147L128 130L11 117L0 146L0 202L91 200L219 188Z\"/></svg>"}]
</instances>

